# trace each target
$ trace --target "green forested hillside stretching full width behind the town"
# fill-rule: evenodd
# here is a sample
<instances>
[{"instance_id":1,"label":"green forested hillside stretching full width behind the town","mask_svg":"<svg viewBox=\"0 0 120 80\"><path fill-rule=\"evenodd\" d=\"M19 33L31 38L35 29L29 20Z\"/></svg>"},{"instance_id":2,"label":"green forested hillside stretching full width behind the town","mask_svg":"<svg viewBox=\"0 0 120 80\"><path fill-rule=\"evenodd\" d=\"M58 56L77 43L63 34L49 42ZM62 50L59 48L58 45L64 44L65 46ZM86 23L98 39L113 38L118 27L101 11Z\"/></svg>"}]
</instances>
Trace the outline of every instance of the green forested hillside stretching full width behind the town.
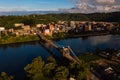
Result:
<instances>
[{"instance_id":1,"label":"green forested hillside stretching full width behind the town","mask_svg":"<svg viewBox=\"0 0 120 80\"><path fill-rule=\"evenodd\" d=\"M62 14L40 14L40 15L24 15L24 16L0 16L0 26L11 28L15 23L24 23L25 25L35 26L35 24L48 24L50 22L57 23L63 21L107 21L120 22L120 12L113 13L62 13Z\"/></svg>"}]
</instances>

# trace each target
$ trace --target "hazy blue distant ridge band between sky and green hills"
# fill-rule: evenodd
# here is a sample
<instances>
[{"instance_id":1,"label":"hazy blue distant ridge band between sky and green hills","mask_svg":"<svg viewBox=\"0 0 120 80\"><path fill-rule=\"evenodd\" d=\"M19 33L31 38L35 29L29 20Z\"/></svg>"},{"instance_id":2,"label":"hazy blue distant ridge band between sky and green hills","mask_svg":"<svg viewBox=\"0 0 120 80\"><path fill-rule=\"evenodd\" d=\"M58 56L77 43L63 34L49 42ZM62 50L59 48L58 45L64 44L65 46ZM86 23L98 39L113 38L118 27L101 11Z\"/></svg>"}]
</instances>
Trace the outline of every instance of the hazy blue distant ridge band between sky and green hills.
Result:
<instances>
[{"instance_id":1,"label":"hazy blue distant ridge band between sky and green hills","mask_svg":"<svg viewBox=\"0 0 120 80\"><path fill-rule=\"evenodd\" d=\"M25 16L25 15L43 15L43 14L109 14L109 13L119 13L120 11L114 12L93 12L93 13L69 13L60 11L9 11L0 12L0 16Z\"/></svg>"}]
</instances>

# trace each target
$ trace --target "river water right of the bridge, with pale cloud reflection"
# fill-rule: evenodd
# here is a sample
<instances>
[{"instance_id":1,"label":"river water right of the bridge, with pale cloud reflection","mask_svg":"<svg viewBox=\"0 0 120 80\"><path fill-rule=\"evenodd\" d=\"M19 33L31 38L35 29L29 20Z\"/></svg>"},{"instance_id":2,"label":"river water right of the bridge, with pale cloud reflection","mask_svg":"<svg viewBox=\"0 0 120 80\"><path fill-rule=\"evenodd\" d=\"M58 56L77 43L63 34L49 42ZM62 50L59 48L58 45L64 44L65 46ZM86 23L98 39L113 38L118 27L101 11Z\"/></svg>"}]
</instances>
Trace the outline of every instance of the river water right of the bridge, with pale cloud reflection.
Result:
<instances>
[{"instance_id":1,"label":"river water right of the bridge, with pale cloud reflection","mask_svg":"<svg viewBox=\"0 0 120 80\"><path fill-rule=\"evenodd\" d=\"M69 45L77 54L94 52L96 48L120 48L120 35L104 35L83 38L71 38L57 41L57 44Z\"/></svg>"}]
</instances>

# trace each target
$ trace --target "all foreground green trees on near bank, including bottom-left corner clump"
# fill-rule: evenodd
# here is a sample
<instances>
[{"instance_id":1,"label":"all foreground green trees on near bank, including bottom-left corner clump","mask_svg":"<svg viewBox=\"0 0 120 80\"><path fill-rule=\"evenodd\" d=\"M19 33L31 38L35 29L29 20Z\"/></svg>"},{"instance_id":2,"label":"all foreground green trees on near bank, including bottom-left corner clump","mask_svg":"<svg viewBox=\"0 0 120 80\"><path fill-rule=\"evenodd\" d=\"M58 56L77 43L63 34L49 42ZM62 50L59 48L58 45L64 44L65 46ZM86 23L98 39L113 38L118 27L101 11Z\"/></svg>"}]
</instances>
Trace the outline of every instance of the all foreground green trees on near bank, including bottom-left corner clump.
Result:
<instances>
[{"instance_id":1,"label":"all foreground green trees on near bank, including bottom-left corner clump","mask_svg":"<svg viewBox=\"0 0 120 80\"><path fill-rule=\"evenodd\" d=\"M53 57L48 57L44 62L37 57L24 67L26 77L24 80L69 80L71 77L77 80L88 80L90 78L91 61L99 59L98 56L81 55L80 63L58 63ZM5 72L0 75L0 80L14 80L16 76L9 76Z\"/></svg>"}]
</instances>

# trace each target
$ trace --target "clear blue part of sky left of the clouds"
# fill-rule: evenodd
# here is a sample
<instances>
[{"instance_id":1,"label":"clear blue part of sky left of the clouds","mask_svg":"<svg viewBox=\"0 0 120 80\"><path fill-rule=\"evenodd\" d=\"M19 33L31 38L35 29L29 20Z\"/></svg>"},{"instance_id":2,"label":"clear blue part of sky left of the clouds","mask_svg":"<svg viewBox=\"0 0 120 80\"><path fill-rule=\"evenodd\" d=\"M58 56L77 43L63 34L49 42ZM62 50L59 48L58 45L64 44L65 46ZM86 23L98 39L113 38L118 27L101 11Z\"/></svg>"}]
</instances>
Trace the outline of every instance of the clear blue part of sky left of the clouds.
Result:
<instances>
[{"instance_id":1,"label":"clear blue part of sky left of the clouds","mask_svg":"<svg viewBox=\"0 0 120 80\"><path fill-rule=\"evenodd\" d=\"M69 0L0 0L0 11L49 11L73 5Z\"/></svg>"}]
</instances>

